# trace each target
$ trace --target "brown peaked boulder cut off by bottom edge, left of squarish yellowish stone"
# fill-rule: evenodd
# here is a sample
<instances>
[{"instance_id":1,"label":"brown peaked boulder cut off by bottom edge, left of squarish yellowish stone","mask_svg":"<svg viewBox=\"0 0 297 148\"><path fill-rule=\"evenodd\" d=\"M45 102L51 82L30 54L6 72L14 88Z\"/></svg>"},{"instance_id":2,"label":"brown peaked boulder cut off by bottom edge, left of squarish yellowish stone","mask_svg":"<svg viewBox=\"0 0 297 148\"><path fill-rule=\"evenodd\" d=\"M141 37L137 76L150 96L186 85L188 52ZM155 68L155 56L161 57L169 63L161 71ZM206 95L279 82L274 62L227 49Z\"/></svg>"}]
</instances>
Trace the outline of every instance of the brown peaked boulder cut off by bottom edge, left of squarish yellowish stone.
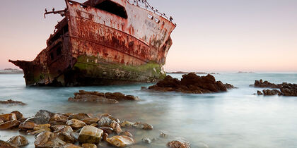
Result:
<instances>
[{"instance_id":1,"label":"brown peaked boulder cut off by bottom edge, left of squarish yellowish stone","mask_svg":"<svg viewBox=\"0 0 297 148\"><path fill-rule=\"evenodd\" d=\"M56 134L52 132L41 132L37 135L34 142L35 147L63 147L66 142L60 140Z\"/></svg>"}]
</instances>

